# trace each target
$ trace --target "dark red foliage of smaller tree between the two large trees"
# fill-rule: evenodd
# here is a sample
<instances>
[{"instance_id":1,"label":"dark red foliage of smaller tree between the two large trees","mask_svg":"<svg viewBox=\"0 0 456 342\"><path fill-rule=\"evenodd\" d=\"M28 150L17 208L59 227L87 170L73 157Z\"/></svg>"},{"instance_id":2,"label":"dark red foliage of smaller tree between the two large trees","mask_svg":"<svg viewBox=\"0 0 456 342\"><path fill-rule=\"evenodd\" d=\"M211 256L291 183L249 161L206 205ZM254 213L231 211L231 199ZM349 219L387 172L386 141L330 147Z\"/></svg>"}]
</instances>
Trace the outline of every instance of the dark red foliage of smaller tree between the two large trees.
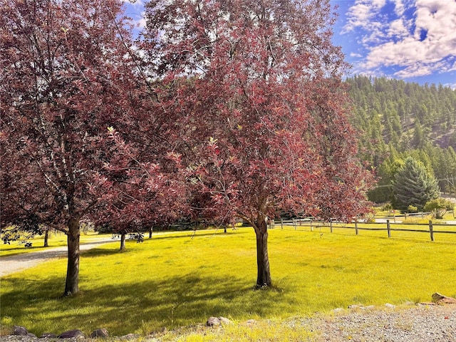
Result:
<instances>
[{"instance_id":1,"label":"dark red foliage of smaller tree between the two large trees","mask_svg":"<svg viewBox=\"0 0 456 342\"><path fill-rule=\"evenodd\" d=\"M109 140L104 147L110 162L97 177L102 205L93 217L96 223L125 234L174 222L186 214L186 187L177 171L182 167L177 155L159 155L133 137L127 144L113 128Z\"/></svg>"}]
</instances>

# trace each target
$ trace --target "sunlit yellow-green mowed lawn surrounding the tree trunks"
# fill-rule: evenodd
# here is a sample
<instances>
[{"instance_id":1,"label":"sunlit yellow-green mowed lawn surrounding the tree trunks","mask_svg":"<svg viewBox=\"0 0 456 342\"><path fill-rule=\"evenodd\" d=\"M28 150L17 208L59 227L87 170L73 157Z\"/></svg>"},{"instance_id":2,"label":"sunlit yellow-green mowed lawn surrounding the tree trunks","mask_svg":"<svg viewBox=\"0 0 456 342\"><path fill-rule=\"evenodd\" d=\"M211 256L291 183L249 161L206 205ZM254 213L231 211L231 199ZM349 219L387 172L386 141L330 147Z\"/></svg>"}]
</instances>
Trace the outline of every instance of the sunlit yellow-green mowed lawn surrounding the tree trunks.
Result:
<instances>
[{"instance_id":1,"label":"sunlit yellow-green mowed lawn surrounding the tree trunks","mask_svg":"<svg viewBox=\"0 0 456 342\"><path fill-rule=\"evenodd\" d=\"M456 234L439 241L356 236L354 232L269 230L274 289L253 291L257 276L251 228L156 235L128 251L119 242L81 256L77 296L61 298L66 259L1 279L1 323L40 335L108 328L148 334L202 323L309 316L350 304L430 301L456 296ZM193 238L192 238L193 237Z\"/></svg>"}]
</instances>

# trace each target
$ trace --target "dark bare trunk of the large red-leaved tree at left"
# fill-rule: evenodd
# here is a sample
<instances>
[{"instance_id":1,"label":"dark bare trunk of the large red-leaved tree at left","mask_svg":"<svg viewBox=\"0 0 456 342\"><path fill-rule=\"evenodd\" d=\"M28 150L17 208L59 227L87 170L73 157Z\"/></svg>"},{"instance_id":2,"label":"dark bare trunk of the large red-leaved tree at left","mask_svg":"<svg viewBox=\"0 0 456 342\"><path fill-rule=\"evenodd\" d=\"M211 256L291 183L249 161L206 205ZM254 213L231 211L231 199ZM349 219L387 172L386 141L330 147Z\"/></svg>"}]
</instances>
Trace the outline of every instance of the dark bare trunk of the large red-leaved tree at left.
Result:
<instances>
[{"instance_id":1,"label":"dark bare trunk of the large red-leaved tree at left","mask_svg":"<svg viewBox=\"0 0 456 342\"><path fill-rule=\"evenodd\" d=\"M63 296L71 296L79 292L79 217L72 217L68 222L68 267Z\"/></svg>"}]
</instances>

